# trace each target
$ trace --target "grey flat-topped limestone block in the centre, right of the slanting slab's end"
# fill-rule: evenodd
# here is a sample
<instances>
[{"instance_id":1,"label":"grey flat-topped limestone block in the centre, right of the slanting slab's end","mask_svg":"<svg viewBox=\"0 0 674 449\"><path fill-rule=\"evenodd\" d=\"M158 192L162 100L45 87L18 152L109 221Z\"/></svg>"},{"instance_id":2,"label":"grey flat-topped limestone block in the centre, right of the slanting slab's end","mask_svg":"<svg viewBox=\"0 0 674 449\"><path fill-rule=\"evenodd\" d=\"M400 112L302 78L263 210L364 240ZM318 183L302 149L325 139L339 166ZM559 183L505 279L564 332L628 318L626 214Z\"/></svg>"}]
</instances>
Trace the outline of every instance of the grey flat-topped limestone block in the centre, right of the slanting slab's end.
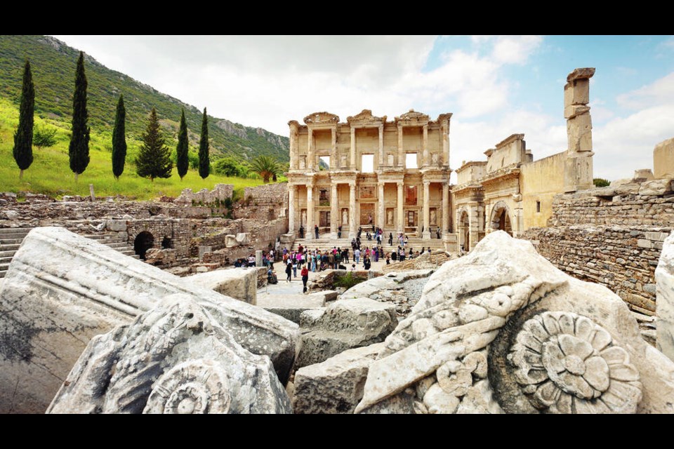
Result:
<instances>
[{"instance_id":1,"label":"grey flat-topped limestone block in the centre, right of the slanting slab's end","mask_svg":"<svg viewBox=\"0 0 674 449\"><path fill-rule=\"evenodd\" d=\"M395 329L392 304L366 298L337 300L300 314L302 348L296 366L320 363L346 349L382 342Z\"/></svg>"}]
</instances>

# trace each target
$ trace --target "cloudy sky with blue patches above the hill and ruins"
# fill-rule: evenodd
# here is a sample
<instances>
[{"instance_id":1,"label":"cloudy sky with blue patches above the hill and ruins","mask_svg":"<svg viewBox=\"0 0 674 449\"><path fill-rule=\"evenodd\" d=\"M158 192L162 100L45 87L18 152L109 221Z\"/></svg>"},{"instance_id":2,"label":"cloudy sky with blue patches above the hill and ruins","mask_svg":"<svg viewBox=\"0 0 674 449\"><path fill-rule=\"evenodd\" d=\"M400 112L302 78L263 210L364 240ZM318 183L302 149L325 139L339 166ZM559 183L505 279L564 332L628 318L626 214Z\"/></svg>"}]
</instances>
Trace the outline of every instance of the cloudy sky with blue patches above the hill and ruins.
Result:
<instances>
[{"instance_id":1,"label":"cloudy sky with blue patches above the hill and ruins","mask_svg":"<svg viewBox=\"0 0 674 449\"><path fill-rule=\"evenodd\" d=\"M56 36L209 114L287 135L316 111L345 121L452 112L451 167L524 133L540 159L567 147L563 86L590 85L595 177L652 168L674 137L673 36Z\"/></svg>"}]
</instances>

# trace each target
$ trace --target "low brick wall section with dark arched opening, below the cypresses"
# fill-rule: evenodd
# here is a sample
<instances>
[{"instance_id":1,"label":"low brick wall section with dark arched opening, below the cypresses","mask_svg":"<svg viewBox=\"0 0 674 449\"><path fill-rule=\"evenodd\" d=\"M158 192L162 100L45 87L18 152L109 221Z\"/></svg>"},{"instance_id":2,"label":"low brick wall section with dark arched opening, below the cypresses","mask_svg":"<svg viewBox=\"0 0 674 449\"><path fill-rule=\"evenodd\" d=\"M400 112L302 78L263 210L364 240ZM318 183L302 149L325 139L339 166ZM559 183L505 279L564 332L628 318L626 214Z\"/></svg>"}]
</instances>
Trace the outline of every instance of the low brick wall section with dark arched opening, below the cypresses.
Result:
<instances>
[{"instance_id":1,"label":"low brick wall section with dark arched opening, below the cypresses","mask_svg":"<svg viewBox=\"0 0 674 449\"><path fill-rule=\"evenodd\" d=\"M153 237L152 248L161 249L162 241L167 238L170 239L169 248L175 248L178 257L190 256L190 241L192 239L190 220L181 218L128 220L126 232L128 232L128 243L131 245L133 245L138 234L149 232Z\"/></svg>"}]
</instances>

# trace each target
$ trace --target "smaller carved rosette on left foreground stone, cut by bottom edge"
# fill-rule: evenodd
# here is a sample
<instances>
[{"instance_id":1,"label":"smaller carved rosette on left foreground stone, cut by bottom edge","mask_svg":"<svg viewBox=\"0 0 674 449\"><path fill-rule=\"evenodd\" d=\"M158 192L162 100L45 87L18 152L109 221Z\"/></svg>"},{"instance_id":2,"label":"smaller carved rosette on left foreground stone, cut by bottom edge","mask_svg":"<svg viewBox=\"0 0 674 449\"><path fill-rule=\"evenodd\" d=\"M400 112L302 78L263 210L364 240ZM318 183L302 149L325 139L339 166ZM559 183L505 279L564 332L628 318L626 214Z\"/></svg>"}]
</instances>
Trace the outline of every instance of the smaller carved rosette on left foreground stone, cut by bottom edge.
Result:
<instances>
[{"instance_id":1,"label":"smaller carved rosette on left foreground stone, cut by bottom edge","mask_svg":"<svg viewBox=\"0 0 674 449\"><path fill-rule=\"evenodd\" d=\"M143 413L228 413L231 402L224 370L218 369L213 361L189 361L180 363L157 381Z\"/></svg>"}]
</instances>

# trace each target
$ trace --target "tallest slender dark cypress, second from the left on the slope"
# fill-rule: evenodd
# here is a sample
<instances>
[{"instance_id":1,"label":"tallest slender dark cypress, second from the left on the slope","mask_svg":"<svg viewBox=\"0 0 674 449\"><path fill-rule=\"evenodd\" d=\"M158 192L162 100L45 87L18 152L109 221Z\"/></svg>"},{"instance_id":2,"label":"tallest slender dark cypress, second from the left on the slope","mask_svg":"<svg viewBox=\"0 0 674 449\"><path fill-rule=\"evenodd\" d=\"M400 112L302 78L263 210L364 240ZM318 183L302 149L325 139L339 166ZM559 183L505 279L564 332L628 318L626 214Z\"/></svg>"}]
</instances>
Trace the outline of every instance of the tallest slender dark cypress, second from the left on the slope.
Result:
<instances>
[{"instance_id":1,"label":"tallest slender dark cypress, second from the left on the slope","mask_svg":"<svg viewBox=\"0 0 674 449\"><path fill-rule=\"evenodd\" d=\"M72 97L72 135L70 136L70 170L77 175L84 173L89 165L89 128L86 125L86 74L84 74L84 53L79 52L77 74L75 75L75 92Z\"/></svg>"}]
</instances>

